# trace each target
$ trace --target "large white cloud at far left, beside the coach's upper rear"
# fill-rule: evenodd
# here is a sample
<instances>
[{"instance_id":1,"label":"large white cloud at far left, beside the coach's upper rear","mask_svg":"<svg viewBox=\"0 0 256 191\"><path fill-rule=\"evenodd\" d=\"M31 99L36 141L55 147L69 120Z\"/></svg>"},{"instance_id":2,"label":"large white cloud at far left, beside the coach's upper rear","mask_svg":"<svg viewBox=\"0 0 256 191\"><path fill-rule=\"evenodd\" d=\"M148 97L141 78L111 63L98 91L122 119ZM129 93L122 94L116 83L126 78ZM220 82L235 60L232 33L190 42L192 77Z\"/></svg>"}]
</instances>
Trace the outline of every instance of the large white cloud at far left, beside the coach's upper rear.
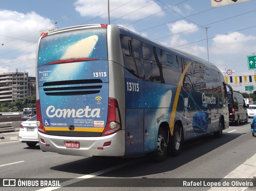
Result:
<instances>
[{"instance_id":1,"label":"large white cloud at far left, beside the coach's upper rear","mask_svg":"<svg viewBox=\"0 0 256 191\"><path fill-rule=\"evenodd\" d=\"M37 43L40 37L39 30L44 27L52 27L48 18L44 18L35 12L27 14L18 13L10 10L0 10L0 34L1 44L7 51L20 49L28 52L35 50L35 46L29 46ZM28 46L28 47L27 47Z\"/></svg>"}]
</instances>

